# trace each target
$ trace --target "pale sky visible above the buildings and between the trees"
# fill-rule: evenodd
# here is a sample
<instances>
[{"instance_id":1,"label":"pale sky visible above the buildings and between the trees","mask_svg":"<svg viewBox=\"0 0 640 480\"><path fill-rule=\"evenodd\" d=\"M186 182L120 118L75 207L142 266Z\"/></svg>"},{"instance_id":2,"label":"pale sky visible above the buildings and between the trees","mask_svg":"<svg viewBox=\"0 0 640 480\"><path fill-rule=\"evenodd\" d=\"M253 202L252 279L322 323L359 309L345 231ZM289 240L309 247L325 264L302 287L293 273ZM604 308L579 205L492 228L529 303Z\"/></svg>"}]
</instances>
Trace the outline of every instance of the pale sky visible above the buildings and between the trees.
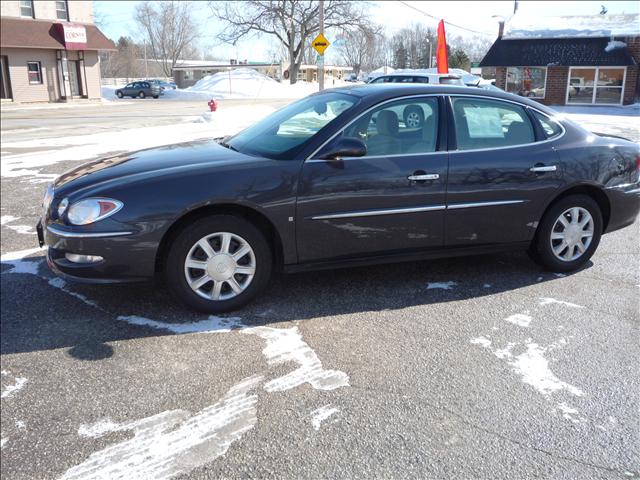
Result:
<instances>
[{"instance_id":1,"label":"pale sky visible above the buildings and between the trees","mask_svg":"<svg viewBox=\"0 0 640 480\"><path fill-rule=\"evenodd\" d=\"M133 20L135 6L138 1L104 1L94 0L94 10L103 16L107 23L103 28L104 33L117 40L120 36L136 38L138 32ZM209 52L221 59L242 58L249 60L268 60L268 53L272 44L268 39L257 39L241 42L237 47L225 45L216 40L216 34L221 25L210 18L210 10L205 1L191 2L196 10L197 18L201 19L203 26L203 40L200 48L206 48ZM513 12L513 1L406 1L420 10L423 10L437 18L486 32L490 36L497 33L497 22L493 15L508 17ZM436 20L412 10L397 1L372 1L371 16L377 23L385 25L388 33L393 33L411 23L424 23L434 27ZM604 5L609 13L640 13L640 2L636 1L528 1L518 2L518 13L532 16L556 16L556 15L588 15L600 12ZM448 35L467 35L464 30L449 27ZM491 37L490 37L491 38ZM329 38L331 41L331 38ZM330 49L327 52L330 56ZM330 60L330 58L328 58Z\"/></svg>"}]
</instances>

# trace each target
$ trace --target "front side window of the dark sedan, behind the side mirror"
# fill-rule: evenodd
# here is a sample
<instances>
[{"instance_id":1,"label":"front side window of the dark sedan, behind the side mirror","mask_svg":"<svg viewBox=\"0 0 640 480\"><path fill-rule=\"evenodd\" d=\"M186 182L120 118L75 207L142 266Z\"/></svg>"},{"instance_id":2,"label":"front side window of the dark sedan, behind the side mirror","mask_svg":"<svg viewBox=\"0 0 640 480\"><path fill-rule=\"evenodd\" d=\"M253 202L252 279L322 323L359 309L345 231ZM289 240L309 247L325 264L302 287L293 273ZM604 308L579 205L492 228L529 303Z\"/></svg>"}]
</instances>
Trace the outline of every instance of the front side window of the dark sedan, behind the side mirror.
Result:
<instances>
[{"instance_id":1,"label":"front side window of the dark sedan, behind the side mirror","mask_svg":"<svg viewBox=\"0 0 640 480\"><path fill-rule=\"evenodd\" d=\"M384 104L363 115L343 133L367 145L367 157L435 152L438 99L412 98Z\"/></svg>"}]
</instances>

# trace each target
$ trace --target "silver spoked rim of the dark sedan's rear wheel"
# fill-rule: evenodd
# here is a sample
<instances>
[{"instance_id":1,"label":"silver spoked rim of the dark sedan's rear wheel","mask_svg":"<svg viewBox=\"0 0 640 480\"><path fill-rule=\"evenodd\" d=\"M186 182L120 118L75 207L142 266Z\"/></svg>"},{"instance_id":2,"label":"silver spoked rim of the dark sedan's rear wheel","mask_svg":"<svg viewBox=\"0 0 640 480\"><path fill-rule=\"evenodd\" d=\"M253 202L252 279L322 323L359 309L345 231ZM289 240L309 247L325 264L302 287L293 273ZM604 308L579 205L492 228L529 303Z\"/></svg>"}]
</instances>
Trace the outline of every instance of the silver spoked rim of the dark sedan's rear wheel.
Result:
<instances>
[{"instance_id":1,"label":"silver spoked rim of the dark sedan's rear wheel","mask_svg":"<svg viewBox=\"0 0 640 480\"><path fill-rule=\"evenodd\" d=\"M572 207L558 217L551 229L551 250L559 260L572 262L580 258L591 245L594 222L589 211Z\"/></svg>"}]
</instances>

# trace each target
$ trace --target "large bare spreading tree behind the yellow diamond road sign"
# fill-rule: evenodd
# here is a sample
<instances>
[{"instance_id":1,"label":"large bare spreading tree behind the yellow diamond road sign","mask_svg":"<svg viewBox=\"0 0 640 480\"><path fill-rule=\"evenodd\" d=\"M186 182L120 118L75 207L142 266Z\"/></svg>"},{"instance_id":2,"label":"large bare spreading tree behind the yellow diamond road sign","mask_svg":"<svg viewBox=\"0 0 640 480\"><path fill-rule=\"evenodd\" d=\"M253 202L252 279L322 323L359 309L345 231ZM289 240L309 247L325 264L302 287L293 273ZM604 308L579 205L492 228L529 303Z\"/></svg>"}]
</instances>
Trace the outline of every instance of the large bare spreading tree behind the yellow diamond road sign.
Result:
<instances>
[{"instance_id":1,"label":"large bare spreading tree behind the yellow diamond road sign","mask_svg":"<svg viewBox=\"0 0 640 480\"><path fill-rule=\"evenodd\" d=\"M245 0L209 2L213 15L225 29L219 38L231 44L252 34L278 39L287 49L289 78L296 83L307 44L320 31L319 2L303 0ZM325 29L364 26L369 23L366 2L326 0Z\"/></svg>"}]
</instances>

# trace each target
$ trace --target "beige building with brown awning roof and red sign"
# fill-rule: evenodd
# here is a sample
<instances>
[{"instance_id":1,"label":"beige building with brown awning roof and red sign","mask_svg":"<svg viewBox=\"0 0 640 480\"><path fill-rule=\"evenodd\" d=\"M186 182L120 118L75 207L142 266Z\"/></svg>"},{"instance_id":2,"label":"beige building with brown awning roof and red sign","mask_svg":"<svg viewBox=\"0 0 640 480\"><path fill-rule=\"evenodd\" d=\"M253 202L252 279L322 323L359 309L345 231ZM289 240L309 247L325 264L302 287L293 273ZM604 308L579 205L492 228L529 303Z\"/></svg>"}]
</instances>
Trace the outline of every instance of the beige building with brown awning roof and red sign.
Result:
<instances>
[{"instance_id":1,"label":"beige building with brown awning roof and red sign","mask_svg":"<svg viewBox=\"0 0 640 480\"><path fill-rule=\"evenodd\" d=\"M91 1L3 0L2 101L100 99L98 52L115 49L93 24Z\"/></svg>"}]
</instances>

